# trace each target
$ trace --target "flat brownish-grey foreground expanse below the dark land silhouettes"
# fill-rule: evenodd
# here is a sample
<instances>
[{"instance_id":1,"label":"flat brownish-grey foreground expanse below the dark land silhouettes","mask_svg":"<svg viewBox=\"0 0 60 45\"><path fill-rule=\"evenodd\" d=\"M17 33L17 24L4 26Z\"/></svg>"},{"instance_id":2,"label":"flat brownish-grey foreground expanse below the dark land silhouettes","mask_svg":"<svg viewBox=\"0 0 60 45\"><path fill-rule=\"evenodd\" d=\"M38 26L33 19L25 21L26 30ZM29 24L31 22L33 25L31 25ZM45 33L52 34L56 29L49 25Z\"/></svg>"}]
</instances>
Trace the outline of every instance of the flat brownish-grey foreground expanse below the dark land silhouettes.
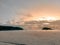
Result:
<instances>
[{"instance_id":1,"label":"flat brownish-grey foreground expanse below the dark land silhouettes","mask_svg":"<svg viewBox=\"0 0 60 45\"><path fill-rule=\"evenodd\" d=\"M1 31L0 45L60 45L59 30Z\"/></svg>"}]
</instances>

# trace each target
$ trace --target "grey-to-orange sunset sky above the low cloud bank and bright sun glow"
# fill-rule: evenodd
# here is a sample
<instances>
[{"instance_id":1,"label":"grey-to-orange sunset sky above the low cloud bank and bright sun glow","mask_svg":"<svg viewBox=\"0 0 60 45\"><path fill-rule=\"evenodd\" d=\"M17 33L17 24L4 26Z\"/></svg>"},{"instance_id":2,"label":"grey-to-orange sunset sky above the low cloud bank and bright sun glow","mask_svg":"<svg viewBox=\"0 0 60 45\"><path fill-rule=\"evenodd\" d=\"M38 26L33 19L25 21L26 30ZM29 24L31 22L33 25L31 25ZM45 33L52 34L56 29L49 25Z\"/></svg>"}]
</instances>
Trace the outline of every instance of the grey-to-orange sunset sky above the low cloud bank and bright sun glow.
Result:
<instances>
[{"instance_id":1,"label":"grey-to-orange sunset sky above the low cloud bank and bright sun glow","mask_svg":"<svg viewBox=\"0 0 60 45\"><path fill-rule=\"evenodd\" d=\"M0 0L0 22L41 17L60 19L60 0Z\"/></svg>"}]
</instances>

